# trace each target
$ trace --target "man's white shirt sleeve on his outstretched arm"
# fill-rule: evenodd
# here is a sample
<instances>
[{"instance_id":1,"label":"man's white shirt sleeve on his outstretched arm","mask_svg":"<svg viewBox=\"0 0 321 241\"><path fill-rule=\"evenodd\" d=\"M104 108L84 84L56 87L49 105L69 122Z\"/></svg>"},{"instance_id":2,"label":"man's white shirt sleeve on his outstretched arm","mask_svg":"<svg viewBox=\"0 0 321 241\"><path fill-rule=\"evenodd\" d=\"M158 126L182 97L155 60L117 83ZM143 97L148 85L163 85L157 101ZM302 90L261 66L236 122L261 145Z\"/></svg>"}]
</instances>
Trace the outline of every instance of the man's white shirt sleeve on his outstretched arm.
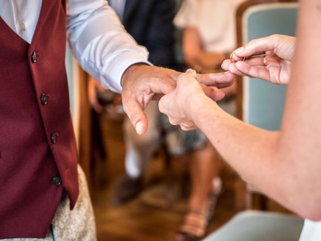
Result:
<instances>
[{"instance_id":1,"label":"man's white shirt sleeve on his outstretched arm","mask_svg":"<svg viewBox=\"0 0 321 241\"><path fill-rule=\"evenodd\" d=\"M121 92L121 76L130 65L150 64L147 50L104 0L67 1L67 37L81 67L115 92Z\"/></svg>"}]
</instances>

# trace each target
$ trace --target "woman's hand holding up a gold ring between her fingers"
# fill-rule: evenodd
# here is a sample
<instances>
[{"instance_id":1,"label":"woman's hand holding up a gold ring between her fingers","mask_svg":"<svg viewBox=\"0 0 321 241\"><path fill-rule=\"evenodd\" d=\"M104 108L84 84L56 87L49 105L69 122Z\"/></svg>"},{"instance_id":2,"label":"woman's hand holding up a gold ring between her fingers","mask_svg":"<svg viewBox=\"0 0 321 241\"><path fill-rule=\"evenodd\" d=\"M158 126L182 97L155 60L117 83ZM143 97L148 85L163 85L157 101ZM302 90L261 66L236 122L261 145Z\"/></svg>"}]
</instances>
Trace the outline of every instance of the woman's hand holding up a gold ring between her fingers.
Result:
<instances>
[{"instance_id":1,"label":"woman's hand holding up a gold ring between her fingers","mask_svg":"<svg viewBox=\"0 0 321 241\"><path fill-rule=\"evenodd\" d=\"M223 62L222 68L233 74L288 84L295 42L294 37L277 34L252 40L235 50L231 59Z\"/></svg>"}]
</instances>

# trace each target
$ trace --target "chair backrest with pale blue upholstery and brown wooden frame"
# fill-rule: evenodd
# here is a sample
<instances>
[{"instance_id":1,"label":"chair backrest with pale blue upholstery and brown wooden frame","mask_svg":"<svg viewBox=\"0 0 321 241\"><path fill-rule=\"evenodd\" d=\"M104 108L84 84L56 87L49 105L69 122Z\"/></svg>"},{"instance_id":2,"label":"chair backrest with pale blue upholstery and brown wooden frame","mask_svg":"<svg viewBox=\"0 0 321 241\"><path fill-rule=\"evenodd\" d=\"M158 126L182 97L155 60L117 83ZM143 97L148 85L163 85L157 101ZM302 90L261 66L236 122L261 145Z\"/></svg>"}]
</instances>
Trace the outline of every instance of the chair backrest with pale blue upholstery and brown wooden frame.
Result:
<instances>
[{"instance_id":1,"label":"chair backrest with pale blue upholstery and brown wooden frame","mask_svg":"<svg viewBox=\"0 0 321 241\"><path fill-rule=\"evenodd\" d=\"M284 0L245 2L237 11L238 46L272 34L294 36L297 7L298 3ZM286 87L248 77L238 82L238 116L254 126L279 130Z\"/></svg>"}]
</instances>

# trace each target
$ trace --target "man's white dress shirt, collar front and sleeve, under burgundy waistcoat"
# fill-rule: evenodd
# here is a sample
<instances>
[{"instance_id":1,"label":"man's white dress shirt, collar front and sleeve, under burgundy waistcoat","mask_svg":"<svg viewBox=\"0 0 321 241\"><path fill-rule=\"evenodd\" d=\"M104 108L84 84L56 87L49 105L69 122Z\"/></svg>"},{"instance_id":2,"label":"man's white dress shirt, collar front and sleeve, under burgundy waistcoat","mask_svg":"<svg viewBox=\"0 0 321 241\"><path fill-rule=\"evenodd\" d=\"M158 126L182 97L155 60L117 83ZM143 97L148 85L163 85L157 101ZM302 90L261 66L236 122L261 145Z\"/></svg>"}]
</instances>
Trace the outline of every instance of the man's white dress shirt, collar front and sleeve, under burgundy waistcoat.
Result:
<instances>
[{"instance_id":1,"label":"man's white dress shirt, collar front and sleeve, under burgundy waistcoat","mask_svg":"<svg viewBox=\"0 0 321 241\"><path fill-rule=\"evenodd\" d=\"M0 17L31 43L41 4L42 0L0 1ZM68 0L67 37L82 68L116 92L121 92L120 79L130 65L150 64L147 50L126 33L104 0Z\"/></svg>"}]
</instances>

